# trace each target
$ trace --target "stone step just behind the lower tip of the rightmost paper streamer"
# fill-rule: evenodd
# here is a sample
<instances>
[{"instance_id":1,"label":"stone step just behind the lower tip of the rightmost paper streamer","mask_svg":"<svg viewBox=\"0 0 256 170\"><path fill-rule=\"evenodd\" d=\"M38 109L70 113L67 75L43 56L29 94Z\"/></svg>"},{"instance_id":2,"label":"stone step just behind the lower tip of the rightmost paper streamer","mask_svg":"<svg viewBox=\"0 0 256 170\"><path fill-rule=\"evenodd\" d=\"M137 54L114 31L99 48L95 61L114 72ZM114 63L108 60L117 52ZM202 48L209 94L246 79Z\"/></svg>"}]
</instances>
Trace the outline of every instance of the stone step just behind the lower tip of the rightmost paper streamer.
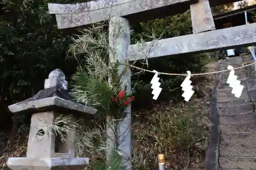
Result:
<instances>
[{"instance_id":1,"label":"stone step just behind the lower tip of the rightmost paper streamer","mask_svg":"<svg viewBox=\"0 0 256 170\"><path fill-rule=\"evenodd\" d=\"M249 100L247 91L242 92L239 98L235 97L231 91L227 93L220 93L217 95L217 102L231 102L231 101L240 101L240 100Z\"/></svg>"}]
</instances>

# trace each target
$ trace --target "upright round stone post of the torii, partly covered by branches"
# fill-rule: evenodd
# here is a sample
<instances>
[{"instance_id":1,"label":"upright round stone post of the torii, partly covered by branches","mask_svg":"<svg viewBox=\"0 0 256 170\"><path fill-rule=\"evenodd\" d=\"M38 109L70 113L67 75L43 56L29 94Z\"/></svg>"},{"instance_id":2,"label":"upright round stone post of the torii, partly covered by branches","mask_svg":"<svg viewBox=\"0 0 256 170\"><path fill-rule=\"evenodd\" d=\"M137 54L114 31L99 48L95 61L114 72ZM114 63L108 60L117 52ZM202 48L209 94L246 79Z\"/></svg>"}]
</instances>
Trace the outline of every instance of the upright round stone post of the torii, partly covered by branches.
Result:
<instances>
[{"instance_id":1,"label":"upright round stone post of the torii, partly covered by branches","mask_svg":"<svg viewBox=\"0 0 256 170\"><path fill-rule=\"evenodd\" d=\"M122 75L121 81L125 82L121 86L127 94L132 93L131 89L131 69L124 65L127 59L127 48L130 45L130 26L129 21L122 17L112 17L109 21L109 59L110 62L118 61L121 63L118 66L118 74ZM125 71L124 71L125 70ZM124 119L113 122L113 117L108 116L106 135L106 159L111 159L113 147L116 147L122 154L122 164L126 166L126 170L132 169L132 114L131 105L124 110ZM117 128L113 127L117 125ZM113 131L117 129L116 131ZM118 137L116 137L118 136Z\"/></svg>"}]
</instances>

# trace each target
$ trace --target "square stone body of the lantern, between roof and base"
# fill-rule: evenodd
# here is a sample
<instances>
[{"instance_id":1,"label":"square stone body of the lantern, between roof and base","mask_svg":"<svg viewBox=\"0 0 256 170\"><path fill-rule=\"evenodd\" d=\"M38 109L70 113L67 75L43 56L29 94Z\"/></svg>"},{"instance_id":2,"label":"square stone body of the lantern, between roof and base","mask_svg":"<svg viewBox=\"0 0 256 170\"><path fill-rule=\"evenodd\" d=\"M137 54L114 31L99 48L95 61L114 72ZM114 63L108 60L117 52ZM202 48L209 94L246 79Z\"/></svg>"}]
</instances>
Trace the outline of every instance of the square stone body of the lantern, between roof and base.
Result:
<instances>
[{"instance_id":1,"label":"square stone body of the lantern, between roof and base","mask_svg":"<svg viewBox=\"0 0 256 170\"><path fill-rule=\"evenodd\" d=\"M28 158L75 157L75 127L65 131L65 141L60 140L59 134L53 128L54 120L60 115L55 111L32 115L27 148ZM70 122L75 121L72 116L69 119Z\"/></svg>"}]
</instances>

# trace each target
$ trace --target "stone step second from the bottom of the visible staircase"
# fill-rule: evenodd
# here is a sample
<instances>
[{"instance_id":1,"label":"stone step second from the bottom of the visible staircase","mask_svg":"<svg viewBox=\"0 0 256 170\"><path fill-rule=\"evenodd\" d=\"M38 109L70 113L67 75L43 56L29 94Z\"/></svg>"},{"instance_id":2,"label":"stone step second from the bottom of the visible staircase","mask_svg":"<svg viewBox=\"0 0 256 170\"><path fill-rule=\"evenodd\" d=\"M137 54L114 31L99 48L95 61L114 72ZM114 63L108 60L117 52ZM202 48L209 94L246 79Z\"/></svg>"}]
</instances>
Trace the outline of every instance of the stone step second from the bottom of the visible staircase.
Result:
<instances>
[{"instance_id":1,"label":"stone step second from the bottom of the visible staircase","mask_svg":"<svg viewBox=\"0 0 256 170\"><path fill-rule=\"evenodd\" d=\"M255 156L256 157L256 144L220 144L220 156Z\"/></svg>"}]
</instances>

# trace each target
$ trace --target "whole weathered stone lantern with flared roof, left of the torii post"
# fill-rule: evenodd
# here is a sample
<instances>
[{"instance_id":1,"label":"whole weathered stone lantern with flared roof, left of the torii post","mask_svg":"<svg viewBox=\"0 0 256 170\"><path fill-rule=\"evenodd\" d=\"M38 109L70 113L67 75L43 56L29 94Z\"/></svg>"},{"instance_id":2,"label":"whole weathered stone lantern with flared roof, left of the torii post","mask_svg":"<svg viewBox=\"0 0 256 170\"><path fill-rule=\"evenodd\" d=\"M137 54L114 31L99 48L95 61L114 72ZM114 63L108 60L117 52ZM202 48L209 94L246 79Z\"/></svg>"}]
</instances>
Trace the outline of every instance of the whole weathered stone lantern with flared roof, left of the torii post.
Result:
<instances>
[{"instance_id":1,"label":"whole weathered stone lantern with flared roof, left of the torii post","mask_svg":"<svg viewBox=\"0 0 256 170\"><path fill-rule=\"evenodd\" d=\"M82 169L89 158L75 157L75 129L66 132L66 140L56 135L53 124L56 117L71 114L95 114L95 108L75 102L68 93L68 83L59 69L53 70L45 80L45 89L25 101L9 106L13 113L32 114L27 157L9 158L7 165L13 170Z\"/></svg>"}]
</instances>

